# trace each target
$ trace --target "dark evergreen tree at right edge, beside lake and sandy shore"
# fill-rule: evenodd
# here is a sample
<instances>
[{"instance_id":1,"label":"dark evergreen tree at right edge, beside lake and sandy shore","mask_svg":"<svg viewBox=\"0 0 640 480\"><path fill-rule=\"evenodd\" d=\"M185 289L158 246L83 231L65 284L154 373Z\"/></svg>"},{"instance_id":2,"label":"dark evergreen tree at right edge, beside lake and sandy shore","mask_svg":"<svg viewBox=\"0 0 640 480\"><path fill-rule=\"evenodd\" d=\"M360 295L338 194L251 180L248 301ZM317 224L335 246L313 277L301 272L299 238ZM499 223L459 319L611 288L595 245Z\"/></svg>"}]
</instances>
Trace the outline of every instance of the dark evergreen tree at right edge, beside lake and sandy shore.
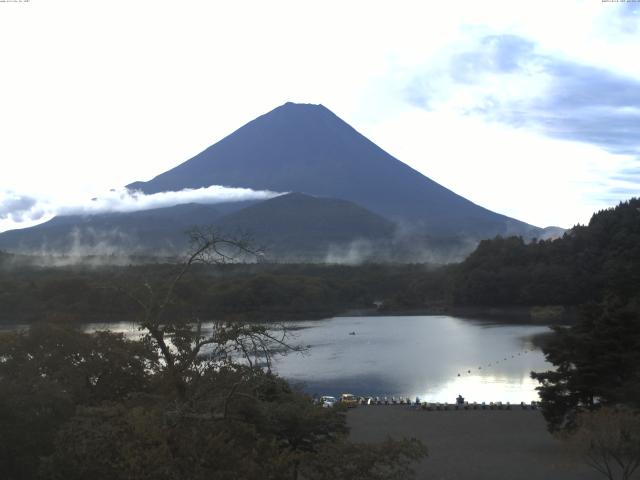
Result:
<instances>
[{"instance_id":1,"label":"dark evergreen tree at right edge, beside lake and sandy shore","mask_svg":"<svg viewBox=\"0 0 640 480\"><path fill-rule=\"evenodd\" d=\"M581 411L602 405L640 408L640 309L609 300L583 309L580 322L555 328L545 345L555 370L532 373L551 431L571 430Z\"/></svg>"}]
</instances>

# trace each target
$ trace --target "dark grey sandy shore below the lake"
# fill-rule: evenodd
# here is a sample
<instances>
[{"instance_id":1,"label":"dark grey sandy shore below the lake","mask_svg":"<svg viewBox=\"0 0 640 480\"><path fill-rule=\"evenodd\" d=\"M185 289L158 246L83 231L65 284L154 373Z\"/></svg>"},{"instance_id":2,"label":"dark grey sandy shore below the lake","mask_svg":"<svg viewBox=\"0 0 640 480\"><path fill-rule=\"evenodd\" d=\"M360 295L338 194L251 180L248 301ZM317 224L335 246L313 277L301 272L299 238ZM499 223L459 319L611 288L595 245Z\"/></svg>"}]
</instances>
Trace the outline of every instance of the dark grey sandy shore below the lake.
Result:
<instances>
[{"instance_id":1,"label":"dark grey sandy shore below the lake","mask_svg":"<svg viewBox=\"0 0 640 480\"><path fill-rule=\"evenodd\" d=\"M429 449L417 478L433 480L597 480L546 430L538 410L424 411L406 406L350 410L351 439L415 437Z\"/></svg>"}]
</instances>

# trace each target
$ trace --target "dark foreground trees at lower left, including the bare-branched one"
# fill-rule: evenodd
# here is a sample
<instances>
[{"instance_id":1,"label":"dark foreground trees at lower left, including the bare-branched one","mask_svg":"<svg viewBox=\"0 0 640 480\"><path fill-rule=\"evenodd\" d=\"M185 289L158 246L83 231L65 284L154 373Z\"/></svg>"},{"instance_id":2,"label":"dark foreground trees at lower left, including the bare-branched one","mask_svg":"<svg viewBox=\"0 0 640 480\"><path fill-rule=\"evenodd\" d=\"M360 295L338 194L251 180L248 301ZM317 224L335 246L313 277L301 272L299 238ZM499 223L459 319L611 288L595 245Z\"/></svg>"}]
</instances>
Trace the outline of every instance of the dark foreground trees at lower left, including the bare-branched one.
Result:
<instances>
[{"instance_id":1,"label":"dark foreground trees at lower left, including the bare-branched one","mask_svg":"<svg viewBox=\"0 0 640 480\"><path fill-rule=\"evenodd\" d=\"M133 285L118 290L136 307L140 341L63 324L0 338L6 477L295 479L314 465L341 472L351 458L358 467L342 478L410 473L421 444L389 441L372 457L369 447L346 441L340 409L312 403L271 374L274 351L290 348L286 331L228 321L203 328L193 303L201 304L197 287L205 284L189 275L193 267L225 261L222 247L248 250L213 231L194 232L192 240L184 263L138 281L130 275ZM257 308L289 295L326 296L305 280L273 285L268 276L254 278L240 301L255 298Z\"/></svg>"}]
</instances>

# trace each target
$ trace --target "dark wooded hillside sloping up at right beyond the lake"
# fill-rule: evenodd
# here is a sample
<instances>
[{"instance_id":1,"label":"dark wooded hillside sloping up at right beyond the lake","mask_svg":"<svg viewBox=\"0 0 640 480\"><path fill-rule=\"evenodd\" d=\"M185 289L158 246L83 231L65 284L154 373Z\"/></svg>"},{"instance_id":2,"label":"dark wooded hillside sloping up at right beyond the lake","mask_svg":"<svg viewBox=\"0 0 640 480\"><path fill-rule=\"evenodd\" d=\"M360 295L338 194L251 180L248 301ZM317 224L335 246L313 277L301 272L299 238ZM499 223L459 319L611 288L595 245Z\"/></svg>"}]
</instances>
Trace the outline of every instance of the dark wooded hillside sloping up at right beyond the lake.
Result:
<instances>
[{"instance_id":1,"label":"dark wooded hillside sloping up at right beyond the lake","mask_svg":"<svg viewBox=\"0 0 640 480\"><path fill-rule=\"evenodd\" d=\"M640 285L640 199L593 215L557 240L480 242L454 273L456 305L581 305Z\"/></svg>"}]
</instances>

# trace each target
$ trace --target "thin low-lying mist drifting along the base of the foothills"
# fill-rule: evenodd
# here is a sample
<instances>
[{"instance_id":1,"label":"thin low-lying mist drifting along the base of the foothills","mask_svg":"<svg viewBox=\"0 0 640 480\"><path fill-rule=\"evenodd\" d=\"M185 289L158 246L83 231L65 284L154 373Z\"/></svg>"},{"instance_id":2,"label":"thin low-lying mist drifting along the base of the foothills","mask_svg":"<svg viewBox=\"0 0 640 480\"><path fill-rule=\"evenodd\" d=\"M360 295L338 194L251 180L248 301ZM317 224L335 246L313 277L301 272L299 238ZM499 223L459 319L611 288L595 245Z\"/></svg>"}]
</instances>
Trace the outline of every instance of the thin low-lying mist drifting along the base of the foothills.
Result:
<instances>
[{"instance_id":1,"label":"thin low-lying mist drifting along the base of the foothills","mask_svg":"<svg viewBox=\"0 0 640 480\"><path fill-rule=\"evenodd\" d=\"M155 233L155 235L154 235ZM220 232L224 236L225 232ZM250 233L250 232L249 232ZM233 234L227 238L234 237ZM360 265L365 263L426 263L443 265L464 260L478 240L468 237L428 237L418 232L400 231L391 238L356 238L347 241L298 242L255 238L255 246L267 245L263 255L242 258L243 262L326 263ZM75 225L69 232L37 244L23 244L12 253L24 261L42 266L129 265L179 261L189 251L183 231L140 232L133 228L100 228ZM6 263L6 262L5 262Z\"/></svg>"}]
</instances>

